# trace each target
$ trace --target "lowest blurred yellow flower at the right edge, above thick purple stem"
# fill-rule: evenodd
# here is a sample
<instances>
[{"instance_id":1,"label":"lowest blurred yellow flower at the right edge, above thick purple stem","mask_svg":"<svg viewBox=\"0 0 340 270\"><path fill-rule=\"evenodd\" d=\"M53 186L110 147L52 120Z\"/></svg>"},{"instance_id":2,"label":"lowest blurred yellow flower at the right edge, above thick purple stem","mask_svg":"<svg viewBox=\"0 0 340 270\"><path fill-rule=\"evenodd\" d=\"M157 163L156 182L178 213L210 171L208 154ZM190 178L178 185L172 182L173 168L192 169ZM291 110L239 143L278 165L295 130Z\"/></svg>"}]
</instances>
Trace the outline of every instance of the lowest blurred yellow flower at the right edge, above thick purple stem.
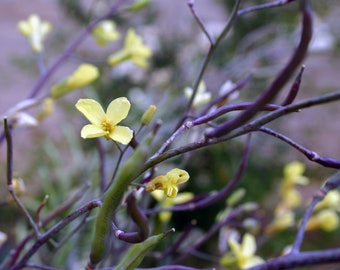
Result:
<instances>
[{"instance_id":1,"label":"lowest blurred yellow flower at the right edge, above thick purple stem","mask_svg":"<svg viewBox=\"0 0 340 270\"><path fill-rule=\"evenodd\" d=\"M317 212L308 220L306 231L322 229L330 232L339 227L338 214L333 209L325 209Z\"/></svg>"}]
</instances>

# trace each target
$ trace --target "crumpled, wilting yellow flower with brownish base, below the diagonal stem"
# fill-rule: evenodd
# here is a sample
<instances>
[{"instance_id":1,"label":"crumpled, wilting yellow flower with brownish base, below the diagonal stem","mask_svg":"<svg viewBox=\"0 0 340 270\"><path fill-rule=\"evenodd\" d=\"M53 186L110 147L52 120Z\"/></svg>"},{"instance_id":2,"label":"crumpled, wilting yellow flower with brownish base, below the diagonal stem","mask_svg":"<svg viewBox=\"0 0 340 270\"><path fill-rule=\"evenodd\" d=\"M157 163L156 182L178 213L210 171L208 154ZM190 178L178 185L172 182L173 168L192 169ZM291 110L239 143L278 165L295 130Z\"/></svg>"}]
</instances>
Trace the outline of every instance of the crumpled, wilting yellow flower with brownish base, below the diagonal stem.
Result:
<instances>
[{"instance_id":1,"label":"crumpled, wilting yellow flower with brownish base, below the diagonal stem","mask_svg":"<svg viewBox=\"0 0 340 270\"><path fill-rule=\"evenodd\" d=\"M177 185L182 184L189 180L189 174L180 169L172 169L166 175L160 175L152 179L145 186L147 192L154 190L163 190L167 197L174 198L177 195Z\"/></svg>"}]
</instances>

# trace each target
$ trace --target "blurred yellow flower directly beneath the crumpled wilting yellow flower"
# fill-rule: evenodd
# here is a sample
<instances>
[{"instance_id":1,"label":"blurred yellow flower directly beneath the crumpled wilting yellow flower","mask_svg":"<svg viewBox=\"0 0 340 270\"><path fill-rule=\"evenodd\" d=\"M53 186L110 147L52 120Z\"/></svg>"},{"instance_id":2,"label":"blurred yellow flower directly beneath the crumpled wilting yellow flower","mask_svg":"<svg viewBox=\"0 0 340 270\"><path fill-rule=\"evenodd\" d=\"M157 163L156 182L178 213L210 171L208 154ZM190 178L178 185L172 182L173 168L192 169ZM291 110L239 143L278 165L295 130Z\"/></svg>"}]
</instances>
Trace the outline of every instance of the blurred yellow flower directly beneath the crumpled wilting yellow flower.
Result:
<instances>
[{"instance_id":1,"label":"blurred yellow flower directly beneath the crumpled wilting yellow flower","mask_svg":"<svg viewBox=\"0 0 340 270\"><path fill-rule=\"evenodd\" d=\"M181 192L175 198L168 198L165 196L162 190L155 190L151 193L151 195L160 202L160 207L162 208L172 207L177 204L185 203L187 201L190 201L194 197L194 194L191 192ZM166 223L171 219L172 212L161 211L158 216L160 221Z\"/></svg>"}]
</instances>

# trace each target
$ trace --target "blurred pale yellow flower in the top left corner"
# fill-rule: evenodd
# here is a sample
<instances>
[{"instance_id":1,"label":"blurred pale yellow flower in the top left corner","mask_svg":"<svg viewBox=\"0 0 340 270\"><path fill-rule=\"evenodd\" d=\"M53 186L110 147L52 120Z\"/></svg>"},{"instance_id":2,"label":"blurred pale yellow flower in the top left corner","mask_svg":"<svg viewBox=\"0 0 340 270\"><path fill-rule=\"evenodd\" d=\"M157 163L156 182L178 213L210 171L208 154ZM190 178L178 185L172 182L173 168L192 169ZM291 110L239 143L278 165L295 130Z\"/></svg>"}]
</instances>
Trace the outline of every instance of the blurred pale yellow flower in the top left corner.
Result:
<instances>
[{"instance_id":1,"label":"blurred pale yellow flower in the top left corner","mask_svg":"<svg viewBox=\"0 0 340 270\"><path fill-rule=\"evenodd\" d=\"M27 21L18 23L18 29L23 36L28 37L32 50L38 53L43 50L43 41L52 26L49 22L42 21L38 15L32 14Z\"/></svg>"}]
</instances>

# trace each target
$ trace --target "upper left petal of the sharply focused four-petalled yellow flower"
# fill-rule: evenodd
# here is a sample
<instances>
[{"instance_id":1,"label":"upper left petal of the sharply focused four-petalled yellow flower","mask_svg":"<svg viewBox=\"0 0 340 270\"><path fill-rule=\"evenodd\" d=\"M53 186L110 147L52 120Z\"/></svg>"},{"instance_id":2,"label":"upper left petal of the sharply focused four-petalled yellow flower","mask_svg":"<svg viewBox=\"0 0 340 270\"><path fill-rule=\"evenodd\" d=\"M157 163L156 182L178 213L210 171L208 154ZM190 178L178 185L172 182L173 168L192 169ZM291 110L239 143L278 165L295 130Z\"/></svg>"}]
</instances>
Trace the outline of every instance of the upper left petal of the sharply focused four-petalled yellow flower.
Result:
<instances>
[{"instance_id":1,"label":"upper left petal of the sharply focused four-petalled yellow flower","mask_svg":"<svg viewBox=\"0 0 340 270\"><path fill-rule=\"evenodd\" d=\"M79 99L76 108L80 111L91 124L100 126L105 118L102 106L93 99Z\"/></svg>"}]
</instances>

